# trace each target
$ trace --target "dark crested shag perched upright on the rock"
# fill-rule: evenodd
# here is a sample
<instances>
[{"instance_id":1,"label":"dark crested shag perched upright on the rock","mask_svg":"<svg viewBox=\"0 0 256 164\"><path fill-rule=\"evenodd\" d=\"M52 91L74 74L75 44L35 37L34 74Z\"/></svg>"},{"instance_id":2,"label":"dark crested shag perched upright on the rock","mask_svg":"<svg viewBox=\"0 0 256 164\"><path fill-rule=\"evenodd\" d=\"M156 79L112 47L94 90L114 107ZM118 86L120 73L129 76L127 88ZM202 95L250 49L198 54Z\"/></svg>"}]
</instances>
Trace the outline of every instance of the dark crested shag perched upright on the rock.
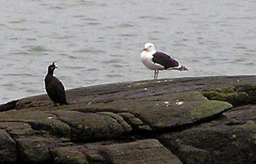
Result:
<instances>
[{"instance_id":1,"label":"dark crested shag perched upright on the rock","mask_svg":"<svg viewBox=\"0 0 256 164\"><path fill-rule=\"evenodd\" d=\"M53 73L57 67L54 62L48 66L48 72L45 77L45 89L46 93L49 95L50 99L55 105L68 104L66 101L65 89L61 81L54 77Z\"/></svg>"}]
</instances>

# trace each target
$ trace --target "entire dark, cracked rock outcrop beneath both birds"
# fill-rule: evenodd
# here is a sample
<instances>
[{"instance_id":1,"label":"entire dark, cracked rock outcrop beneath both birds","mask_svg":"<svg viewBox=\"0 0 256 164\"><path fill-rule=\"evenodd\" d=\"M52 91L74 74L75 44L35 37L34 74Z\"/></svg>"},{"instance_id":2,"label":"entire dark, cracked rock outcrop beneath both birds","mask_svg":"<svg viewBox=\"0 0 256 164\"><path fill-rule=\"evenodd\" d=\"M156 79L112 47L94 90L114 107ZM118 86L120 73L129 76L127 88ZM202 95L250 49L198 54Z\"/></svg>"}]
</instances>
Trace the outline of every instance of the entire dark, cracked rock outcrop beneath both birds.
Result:
<instances>
[{"instance_id":1,"label":"entire dark, cracked rock outcrop beneath both birds","mask_svg":"<svg viewBox=\"0 0 256 164\"><path fill-rule=\"evenodd\" d=\"M256 77L113 83L0 105L0 163L256 163Z\"/></svg>"}]
</instances>

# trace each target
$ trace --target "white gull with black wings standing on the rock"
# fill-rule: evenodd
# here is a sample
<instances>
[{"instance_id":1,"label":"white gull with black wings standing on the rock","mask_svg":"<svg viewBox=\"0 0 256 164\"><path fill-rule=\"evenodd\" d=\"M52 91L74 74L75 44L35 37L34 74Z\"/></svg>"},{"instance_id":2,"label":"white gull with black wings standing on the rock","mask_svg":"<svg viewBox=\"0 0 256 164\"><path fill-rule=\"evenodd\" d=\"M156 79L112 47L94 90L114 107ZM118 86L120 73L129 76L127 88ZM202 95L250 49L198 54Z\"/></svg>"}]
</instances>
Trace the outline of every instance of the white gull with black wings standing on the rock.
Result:
<instances>
[{"instance_id":1,"label":"white gull with black wings standing on the rock","mask_svg":"<svg viewBox=\"0 0 256 164\"><path fill-rule=\"evenodd\" d=\"M177 60L161 51L155 51L153 43L146 43L141 52L142 63L150 70L154 70L154 79L158 78L159 70L179 70L188 71L189 69L182 66Z\"/></svg>"}]
</instances>

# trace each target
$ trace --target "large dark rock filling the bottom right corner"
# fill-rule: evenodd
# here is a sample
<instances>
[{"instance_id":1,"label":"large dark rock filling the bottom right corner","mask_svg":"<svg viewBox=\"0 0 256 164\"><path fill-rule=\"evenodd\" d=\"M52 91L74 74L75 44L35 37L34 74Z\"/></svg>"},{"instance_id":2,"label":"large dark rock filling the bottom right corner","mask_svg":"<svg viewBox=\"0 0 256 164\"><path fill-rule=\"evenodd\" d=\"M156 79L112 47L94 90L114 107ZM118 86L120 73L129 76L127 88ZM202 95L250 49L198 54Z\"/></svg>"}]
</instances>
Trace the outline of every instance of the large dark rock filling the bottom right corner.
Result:
<instances>
[{"instance_id":1,"label":"large dark rock filling the bottom right corner","mask_svg":"<svg viewBox=\"0 0 256 164\"><path fill-rule=\"evenodd\" d=\"M256 123L247 122L243 125L205 125L194 127L175 134L163 134L158 137L163 145L177 155L182 162L195 158L191 153L184 157L180 149L172 149L177 145L189 145L196 149L201 149L197 155L202 155L202 159L207 159L209 153L209 163L255 163L256 162ZM200 163L199 161L197 163ZM203 160L201 163L205 163Z\"/></svg>"}]
</instances>

